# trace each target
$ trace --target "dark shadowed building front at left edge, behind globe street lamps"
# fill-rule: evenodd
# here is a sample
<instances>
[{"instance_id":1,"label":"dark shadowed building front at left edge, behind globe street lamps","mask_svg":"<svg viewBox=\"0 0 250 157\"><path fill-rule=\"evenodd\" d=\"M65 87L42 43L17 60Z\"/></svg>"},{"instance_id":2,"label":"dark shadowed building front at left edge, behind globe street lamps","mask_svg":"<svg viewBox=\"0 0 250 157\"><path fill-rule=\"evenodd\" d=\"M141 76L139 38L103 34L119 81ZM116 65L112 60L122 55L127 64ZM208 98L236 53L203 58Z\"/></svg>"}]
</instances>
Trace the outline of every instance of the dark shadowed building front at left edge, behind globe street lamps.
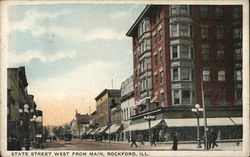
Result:
<instances>
[{"instance_id":1,"label":"dark shadowed building front at left edge, behind globe street lamps","mask_svg":"<svg viewBox=\"0 0 250 157\"><path fill-rule=\"evenodd\" d=\"M30 149L31 141L42 138L42 111L28 94L25 67L7 69L8 150Z\"/></svg>"}]
</instances>

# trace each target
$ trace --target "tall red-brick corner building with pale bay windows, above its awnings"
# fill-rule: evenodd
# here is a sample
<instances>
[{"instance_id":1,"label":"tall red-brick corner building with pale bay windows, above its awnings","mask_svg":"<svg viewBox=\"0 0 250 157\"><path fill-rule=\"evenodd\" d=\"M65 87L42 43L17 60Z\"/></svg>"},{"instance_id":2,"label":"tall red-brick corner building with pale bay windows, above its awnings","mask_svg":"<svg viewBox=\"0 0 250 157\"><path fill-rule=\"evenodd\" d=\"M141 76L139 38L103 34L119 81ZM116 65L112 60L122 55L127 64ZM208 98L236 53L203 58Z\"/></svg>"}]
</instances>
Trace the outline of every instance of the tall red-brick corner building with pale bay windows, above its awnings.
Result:
<instances>
[{"instance_id":1,"label":"tall red-brick corner building with pale bay windows, above its awnings","mask_svg":"<svg viewBox=\"0 0 250 157\"><path fill-rule=\"evenodd\" d=\"M147 5L132 37L136 115L242 117L242 6ZM165 113L164 113L165 112ZM170 113L172 112L172 113ZM141 120L139 120L141 117Z\"/></svg>"}]
</instances>

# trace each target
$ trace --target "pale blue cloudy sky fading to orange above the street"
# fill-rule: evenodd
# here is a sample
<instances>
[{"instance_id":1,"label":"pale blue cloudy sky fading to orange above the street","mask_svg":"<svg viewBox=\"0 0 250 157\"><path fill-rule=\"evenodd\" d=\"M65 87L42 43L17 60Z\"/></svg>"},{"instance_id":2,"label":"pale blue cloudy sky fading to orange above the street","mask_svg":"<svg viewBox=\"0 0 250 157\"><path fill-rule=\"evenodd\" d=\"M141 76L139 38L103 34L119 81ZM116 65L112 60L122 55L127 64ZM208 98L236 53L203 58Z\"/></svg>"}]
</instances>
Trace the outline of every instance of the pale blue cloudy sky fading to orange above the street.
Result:
<instances>
[{"instance_id":1,"label":"pale blue cloudy sky fading to orange above the street","mask_svg":"<svg viewBox=\"0 0 250 157\"><path fill-rule=\"evenodd\" d=\"M25 66L28 93L44 125L62 125L75 110L95 110L104 89L133 74L125 34L145 4L36 4L8 8L9 66Z\"/></svg>"}]
</instances>

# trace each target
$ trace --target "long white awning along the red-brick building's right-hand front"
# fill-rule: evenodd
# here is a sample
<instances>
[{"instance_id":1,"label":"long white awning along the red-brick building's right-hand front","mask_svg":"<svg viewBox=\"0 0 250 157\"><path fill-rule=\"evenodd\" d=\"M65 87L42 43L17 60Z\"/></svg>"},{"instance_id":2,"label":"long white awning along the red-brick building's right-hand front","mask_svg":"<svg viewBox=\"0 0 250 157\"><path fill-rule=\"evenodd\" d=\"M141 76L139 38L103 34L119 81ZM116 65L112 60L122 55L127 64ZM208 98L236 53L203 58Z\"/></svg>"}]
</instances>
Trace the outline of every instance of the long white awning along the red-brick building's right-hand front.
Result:
<instances>
[{"instance_id":1,"label":"long white awning along the red-brick building's right-hand front","mask_svg":"<svg viewBox=\"0 0 250 157\"><path fill-rule=\"evenodd\" d=\"M207 118L207 126L242 125L242 118ZM193 127L197 126L196 118L164 119L168 127ZM235 123L235 124L234 124ZM204 119L200 118L200 126L204 126Z\"/></svg>"}]
</instances>

